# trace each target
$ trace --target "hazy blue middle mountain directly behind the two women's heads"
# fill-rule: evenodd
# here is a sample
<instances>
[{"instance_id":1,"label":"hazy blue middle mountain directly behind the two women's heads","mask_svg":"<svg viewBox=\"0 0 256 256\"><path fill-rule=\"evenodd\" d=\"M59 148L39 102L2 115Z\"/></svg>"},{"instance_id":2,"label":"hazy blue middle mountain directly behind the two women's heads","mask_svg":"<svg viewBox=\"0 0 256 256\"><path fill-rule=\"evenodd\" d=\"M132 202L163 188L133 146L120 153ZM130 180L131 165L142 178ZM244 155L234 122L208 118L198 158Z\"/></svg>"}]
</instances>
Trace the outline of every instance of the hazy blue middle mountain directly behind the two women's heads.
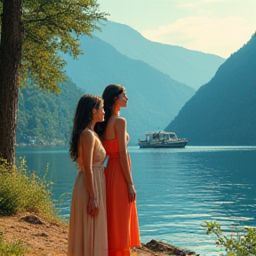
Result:
<instances>
[{"instance_id":1,"label":"hazy blue middle mountain directly behind the two women's heads","mask_svg":"<svg viewBox=\"0 0 256 256\"><path fill-rule=\"evenodd\" d=\"M129 98L121 110L127 119L131 142L145 132L164 129L195 90L141 60L131 60L97 36L81 38L84 55L73 60L65 55L69 77L86 93L102 95L108 84L123 84Z\"/></svg>"}]
</instances>

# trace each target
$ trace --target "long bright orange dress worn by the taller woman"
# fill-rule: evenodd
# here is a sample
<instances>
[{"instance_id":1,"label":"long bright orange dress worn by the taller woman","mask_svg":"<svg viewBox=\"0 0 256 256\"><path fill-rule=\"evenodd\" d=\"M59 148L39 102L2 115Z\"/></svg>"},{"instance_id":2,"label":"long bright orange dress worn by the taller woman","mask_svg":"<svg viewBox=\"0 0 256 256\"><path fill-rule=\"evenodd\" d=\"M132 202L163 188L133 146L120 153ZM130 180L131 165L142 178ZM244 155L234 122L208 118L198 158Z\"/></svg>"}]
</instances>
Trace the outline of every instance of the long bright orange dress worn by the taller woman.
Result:
<instances>
[{"instance_id":1,"label":"long bright orange dress worn by the taller woman","mask_svg":"<svg viewBox=\"0 0 256 256\"><path fill-rule=\"evenodd\" d=\"M135 202L129 203L128 187L119 162L117 140L102 140L109 156L105 169L108 256L129 256L130 248L140 246L139 222ZM129 166L131 170L131 161ZM131 172L131 171L130 171Z\"/></svg>"}]
</instances>

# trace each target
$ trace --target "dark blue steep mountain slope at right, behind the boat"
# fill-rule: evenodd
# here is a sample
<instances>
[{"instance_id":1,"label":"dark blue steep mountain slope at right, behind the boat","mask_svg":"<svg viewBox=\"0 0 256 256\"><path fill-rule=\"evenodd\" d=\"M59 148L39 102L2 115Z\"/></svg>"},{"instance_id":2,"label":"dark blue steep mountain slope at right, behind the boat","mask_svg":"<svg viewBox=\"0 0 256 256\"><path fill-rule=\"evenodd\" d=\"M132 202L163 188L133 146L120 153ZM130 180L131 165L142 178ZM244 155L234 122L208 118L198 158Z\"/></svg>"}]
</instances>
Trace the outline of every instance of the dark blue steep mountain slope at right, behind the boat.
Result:
<instances>
[{"instance_id":1,"label":"dark blue steep mountain slope at right, behind the boat","mask_svg":"<svg viewBox=\"0 0 256 256\"><path fill-rule=\"evenodd\" d=\"M189 145L256 145L255 35L188 100L165 131L188 138Z\"/></svg>"}]
</instances>

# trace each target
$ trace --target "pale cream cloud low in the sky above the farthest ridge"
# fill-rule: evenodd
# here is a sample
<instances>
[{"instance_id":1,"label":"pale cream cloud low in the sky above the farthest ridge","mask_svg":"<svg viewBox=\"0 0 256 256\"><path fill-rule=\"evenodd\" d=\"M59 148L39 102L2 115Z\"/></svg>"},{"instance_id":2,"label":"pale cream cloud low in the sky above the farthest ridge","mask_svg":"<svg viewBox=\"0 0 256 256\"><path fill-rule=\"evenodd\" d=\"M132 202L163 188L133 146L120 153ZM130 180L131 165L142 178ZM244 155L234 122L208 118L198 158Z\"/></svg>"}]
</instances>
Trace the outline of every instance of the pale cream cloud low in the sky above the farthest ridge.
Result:
<instances>
[{"instance_id":1,"label":"pale cream cloud low in the sky above the farthest ridge","mask_svg":"<svg viewBox=\"0 0 256 256\"><path fill-rule=\"evenodd\" d=\"M256 27L248 25L241 17L220 19L214 16L201 16L176 20L167 26L143 30L140 33L151 41L180 45L227 58L246 44L255 30Z\"/></svg>"}]
</instances>

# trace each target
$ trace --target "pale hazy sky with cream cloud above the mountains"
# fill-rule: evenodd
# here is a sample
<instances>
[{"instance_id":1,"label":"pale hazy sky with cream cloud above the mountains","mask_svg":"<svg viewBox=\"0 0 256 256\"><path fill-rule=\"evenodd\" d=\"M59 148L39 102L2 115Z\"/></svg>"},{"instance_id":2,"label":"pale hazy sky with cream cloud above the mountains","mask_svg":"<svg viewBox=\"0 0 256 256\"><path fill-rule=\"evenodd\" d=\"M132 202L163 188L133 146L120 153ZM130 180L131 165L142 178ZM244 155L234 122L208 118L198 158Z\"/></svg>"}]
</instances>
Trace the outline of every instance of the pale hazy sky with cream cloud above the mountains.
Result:
<instances>
[{"instance_id":1,"label":"pale hazy sky with cream cloud above the mountains","mask_svg":"<svg viewBox=\"0 0 256 256\"><path fill-rule=\"evenodd\" d=\"M256 0L98 0L151 41L228 58L256 31Z\"/></svg>"}]
</instances>

